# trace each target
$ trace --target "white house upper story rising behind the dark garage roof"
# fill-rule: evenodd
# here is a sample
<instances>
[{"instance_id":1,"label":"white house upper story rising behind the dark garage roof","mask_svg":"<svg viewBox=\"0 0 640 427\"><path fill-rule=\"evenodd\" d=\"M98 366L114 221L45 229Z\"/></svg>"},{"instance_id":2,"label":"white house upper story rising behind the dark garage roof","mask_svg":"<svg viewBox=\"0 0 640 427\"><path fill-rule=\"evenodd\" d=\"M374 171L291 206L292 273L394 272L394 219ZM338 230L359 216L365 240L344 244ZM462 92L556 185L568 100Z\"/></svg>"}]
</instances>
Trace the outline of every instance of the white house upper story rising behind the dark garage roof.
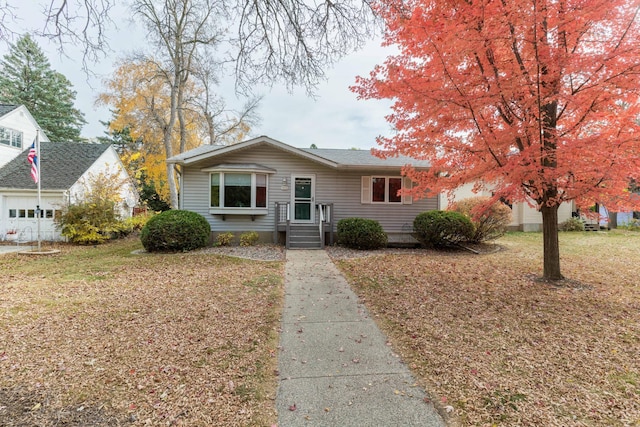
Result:
<instances>
[{"instance_id":1,"label":"white house upper story rising behind the dark garage roof","mask_svg":"<svg viewBox=\"0 0 640 427\"><path fill-rule=\"evenodd\" d=\"M24 105L0 104L0 167L16 158L36 138L38 123ZM40 131L40 141L48 141Z\"/></svg>"}]
</instances>

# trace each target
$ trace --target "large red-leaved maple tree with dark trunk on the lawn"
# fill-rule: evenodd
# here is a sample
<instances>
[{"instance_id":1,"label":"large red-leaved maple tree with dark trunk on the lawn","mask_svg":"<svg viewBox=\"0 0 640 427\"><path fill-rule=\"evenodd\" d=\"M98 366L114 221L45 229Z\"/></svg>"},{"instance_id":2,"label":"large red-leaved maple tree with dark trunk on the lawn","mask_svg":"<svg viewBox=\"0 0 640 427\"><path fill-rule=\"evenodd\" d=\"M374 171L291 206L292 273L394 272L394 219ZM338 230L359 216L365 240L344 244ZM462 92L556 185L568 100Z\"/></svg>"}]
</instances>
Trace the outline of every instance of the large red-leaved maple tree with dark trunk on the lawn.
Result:
<instances>
[{"instance_id":1,"label":"large red-leaved maple tree with dark trunk on the lawn","mask_svg":"<svg viewBox=\"0 0 640 427\"><path fill-rule=\"evenodd\" d=\"M465 183L542 213L544 273L561 279L558 206L638 206L640 1L379 0L399 53L352 88L394 101L381 156L423 196Z\"/></svg>"}]
</instances>

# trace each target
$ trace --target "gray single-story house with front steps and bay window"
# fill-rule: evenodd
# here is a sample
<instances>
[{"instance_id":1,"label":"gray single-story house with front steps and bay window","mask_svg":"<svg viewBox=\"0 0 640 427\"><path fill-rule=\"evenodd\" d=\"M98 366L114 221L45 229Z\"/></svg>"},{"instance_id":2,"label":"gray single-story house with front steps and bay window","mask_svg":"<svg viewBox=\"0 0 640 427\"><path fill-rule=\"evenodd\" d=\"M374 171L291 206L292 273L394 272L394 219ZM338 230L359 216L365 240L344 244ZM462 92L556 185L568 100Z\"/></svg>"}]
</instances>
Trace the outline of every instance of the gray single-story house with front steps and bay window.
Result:
<instances>
[{"instance_id":1,"label":"gray single-story house with front steps and bay window","mask_svg":"<svg viewBox=\"0 0 640 427\"><path fill-rule=\"evenodd\" d=\"M380 222L390 242L413 243L413 220L438 209L438 197L398 195L411 180L401 168L429 164L381 159L370 150L296 148L260 136L234 145L203 145L167 160L180 170L180 209L203 215L215 237L256 231L287 248L322 247L340 219Z\"/></svg>"}]
</instances>

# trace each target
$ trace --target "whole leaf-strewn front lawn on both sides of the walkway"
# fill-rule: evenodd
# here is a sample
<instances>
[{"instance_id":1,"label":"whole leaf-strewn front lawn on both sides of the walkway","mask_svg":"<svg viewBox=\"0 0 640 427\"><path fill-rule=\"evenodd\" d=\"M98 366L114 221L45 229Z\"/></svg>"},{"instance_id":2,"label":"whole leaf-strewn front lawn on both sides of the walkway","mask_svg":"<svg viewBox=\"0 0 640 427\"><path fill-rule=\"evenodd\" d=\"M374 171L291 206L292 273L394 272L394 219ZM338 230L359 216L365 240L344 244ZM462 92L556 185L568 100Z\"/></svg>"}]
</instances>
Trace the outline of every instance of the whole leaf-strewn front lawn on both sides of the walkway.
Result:
<instances>
[{"instance_id":1,"label":"whole leaf-strewn front lawn on both sides of the walkway","mask_svg":"<svg viewBox=\"0 0 640 427\"><path fill-rule=\"evenodd\" d=\"M537 233L339 266L452 425L639 425L640 233L560 242L558 286ZM0 257L3 426L275 422L283 263L139 248Z\"/></svg>"}]
</instances>

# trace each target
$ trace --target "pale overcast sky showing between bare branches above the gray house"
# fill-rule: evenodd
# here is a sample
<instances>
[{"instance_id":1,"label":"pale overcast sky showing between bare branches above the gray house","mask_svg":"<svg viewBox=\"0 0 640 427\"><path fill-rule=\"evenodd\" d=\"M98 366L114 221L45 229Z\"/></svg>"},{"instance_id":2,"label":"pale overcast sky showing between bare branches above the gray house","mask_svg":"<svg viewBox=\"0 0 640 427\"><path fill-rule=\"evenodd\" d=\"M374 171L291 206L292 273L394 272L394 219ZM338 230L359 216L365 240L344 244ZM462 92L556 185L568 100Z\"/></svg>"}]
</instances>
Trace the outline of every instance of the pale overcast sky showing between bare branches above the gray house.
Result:
<instances>
[{"instance_id":1,"label":"pale overcast sky showing between bare branches above the gray house","mask_svg":"<svg viewBox=\"0 0 640 427\"><path fill-rule=\"evenodd\" d=\"M39 6L31 1L23 3L17 10L22 20L13 27L20 32L41 27L44 18ZM126 12L119 9L116 13ZM113 53L108 59L91 65L92 71L98 75L95 78L88 78L82 71L80 50L67 47L70 57L61 57L56 46L36 38L52 68L64 74L77 91L76 107L84 113L88 122L82 131L85 137L102 136L105 128L100 120L107 121L111 117L107 108L97 108L94 103L97 94L102 91L102 80L113 71L113 62L134 48L145 45L143 32L126 19L116 21L118 29L109 33ZM375 147L376 136L390 134L389 125L384 119L389 113L390 103L358 101L356 95L349 91L349 86L357 75L368 75L375 64L384 61L384 50L379 44L379 41L372 41L362 51L344 58L328 70L327 81L319 85L316 99L308 97L304 89L289 93L280 84L273 88L258 88L256 95L264 96L258 109L261 121L253 127L251 136L268 135L295 147L309 147L311 144L319 148ZM6 45L0 46L1 55L7 51ZM232 86L233 81L227 79L223 89L226 92L225 99L228 105L241 105L241 100L233 99Z\"/></svg>"}]
</instances>

